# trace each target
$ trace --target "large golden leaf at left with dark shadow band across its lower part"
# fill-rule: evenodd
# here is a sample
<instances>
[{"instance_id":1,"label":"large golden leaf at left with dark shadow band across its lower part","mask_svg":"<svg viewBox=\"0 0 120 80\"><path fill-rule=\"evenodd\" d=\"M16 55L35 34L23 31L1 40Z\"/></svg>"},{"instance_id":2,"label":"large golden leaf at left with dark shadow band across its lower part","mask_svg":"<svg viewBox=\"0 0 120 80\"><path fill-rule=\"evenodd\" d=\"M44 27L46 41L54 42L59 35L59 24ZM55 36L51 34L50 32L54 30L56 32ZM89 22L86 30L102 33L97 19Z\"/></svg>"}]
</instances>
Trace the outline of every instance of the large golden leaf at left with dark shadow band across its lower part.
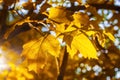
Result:
<instances>
[{"instance_id":1,"label":"large golden leaf at left with dark shadow band across its lower part","mask_svg":"<svg viewBox=\"0 0 120 80\"><path fill-rule=\"evenodd\" d=\"M44 68L47 62L47 53L55 57L58 57L60 53L60 44L52 35L32 40L23 45L22 56L25 57L30 71L38 73L40 69Z\"/></svg>"}]
</instances>

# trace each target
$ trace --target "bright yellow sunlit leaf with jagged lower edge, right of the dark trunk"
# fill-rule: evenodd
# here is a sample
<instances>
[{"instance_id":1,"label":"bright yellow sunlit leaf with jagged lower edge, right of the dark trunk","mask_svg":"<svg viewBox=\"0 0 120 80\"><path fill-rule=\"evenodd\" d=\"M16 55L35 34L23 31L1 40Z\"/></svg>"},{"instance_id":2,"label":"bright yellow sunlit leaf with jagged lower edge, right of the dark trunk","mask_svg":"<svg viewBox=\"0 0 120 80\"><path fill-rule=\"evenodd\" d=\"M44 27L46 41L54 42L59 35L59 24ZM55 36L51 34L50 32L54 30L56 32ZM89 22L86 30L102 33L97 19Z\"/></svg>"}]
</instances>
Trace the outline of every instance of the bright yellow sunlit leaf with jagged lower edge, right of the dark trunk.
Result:
<instances>
[{"instance_id":1,"label":"bright yellow sunlit leaf with jagged lower edge, right of the dark trunk","mask_svg":"<svg viewBox=\"0 0 120 80\"><path fill-rule=\"evenodd\" d=\"M70 50L70 55L74 55L76 50L78 50L85 58L97 59L97 52L95 47L91 41L82 33L73 38Z\"/></svg>"}]
</instances>

